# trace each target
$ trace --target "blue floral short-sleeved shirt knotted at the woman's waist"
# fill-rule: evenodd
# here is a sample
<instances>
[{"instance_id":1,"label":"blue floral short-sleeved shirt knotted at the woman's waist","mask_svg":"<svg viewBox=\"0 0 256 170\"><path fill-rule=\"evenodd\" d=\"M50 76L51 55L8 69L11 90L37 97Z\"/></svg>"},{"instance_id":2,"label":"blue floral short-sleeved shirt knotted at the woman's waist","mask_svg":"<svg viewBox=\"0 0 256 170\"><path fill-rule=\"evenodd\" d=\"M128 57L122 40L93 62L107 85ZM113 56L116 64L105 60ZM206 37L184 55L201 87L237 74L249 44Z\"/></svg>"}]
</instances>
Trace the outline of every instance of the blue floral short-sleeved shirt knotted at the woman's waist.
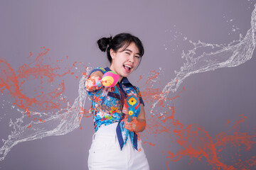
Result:
<instances>
[{"instance_id":1,"label":"blue floral short-sleeved shirt knotted at the woman's waist","mask_svg":"<svg viewBox=\"0 0 256 170\"><path fill-rule=\"evenodd\" d=\"M102 74L105 74L105 72L110 71L110 68L106 67L103 69L101 67L97 67L92 70L92 72L96 71L100 71ZM90 74L92 74L92 72ZM140 103L144 105L139 88L132 86L127 77L124 77L121 83L118 82L117 85L113 87L102 87L102 89L88 92L90 101L92 101L91 113L93 114L93 122L96 132L100 127L110 125L112 123L122 122L121 125L124 125L124 121L122 121L124 118L124 101L125 98L131 94L137 95ZM120 144L122 149L121 145L124 145L127 141L127 132L123 127L121 127L121 131L122 137L124 138L124 143ZM129 133L134 147L137 149L137 135L134 134L134 132Z\"/></svg>"}]
</instances>

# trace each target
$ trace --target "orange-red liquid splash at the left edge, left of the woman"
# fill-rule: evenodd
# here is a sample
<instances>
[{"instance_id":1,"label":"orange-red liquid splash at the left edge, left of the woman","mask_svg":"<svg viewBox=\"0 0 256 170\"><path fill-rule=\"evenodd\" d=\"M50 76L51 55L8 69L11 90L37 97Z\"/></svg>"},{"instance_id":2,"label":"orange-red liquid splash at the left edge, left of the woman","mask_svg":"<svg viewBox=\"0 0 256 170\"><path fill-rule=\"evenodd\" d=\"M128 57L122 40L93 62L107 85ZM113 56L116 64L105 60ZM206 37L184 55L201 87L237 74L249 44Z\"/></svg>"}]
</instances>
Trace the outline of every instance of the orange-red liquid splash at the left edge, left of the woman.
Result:
<instances>
[{"instance_id":1,"label":"orange-red liquid splash at the left edge, left of the woman","mask_svg":"<svg viewBox=\"0 0 256 170\"><path fill-rule=\"evenodd\" d=\"M29 52L26 64L21 65L17 70L0 57L1 93L8 93L14 99L14 106L23 110L31 121L39 120L42 123L44 120L36 118L36 115L31 117L31 111L61 113L62 108L68 108L69 102L62 96L65 92L65 81L61 78L68 75L73 75L75 79L78 79L78 76L81 77L81 74L75 74L73 71L77 62L70 64L70 67L62 68L59 64L68 60L68 56L53 62L50 57L47 57L49 51L48 48L41 47L41 52L35 57L32 52ZM79 65L82 63L80 62ZM30 87L27 90L29 95L26 94L28 87ZM31 87L33 94L31 94ZM31 125L28 128L31 128Z\"/></svg>"}]
</instances>

